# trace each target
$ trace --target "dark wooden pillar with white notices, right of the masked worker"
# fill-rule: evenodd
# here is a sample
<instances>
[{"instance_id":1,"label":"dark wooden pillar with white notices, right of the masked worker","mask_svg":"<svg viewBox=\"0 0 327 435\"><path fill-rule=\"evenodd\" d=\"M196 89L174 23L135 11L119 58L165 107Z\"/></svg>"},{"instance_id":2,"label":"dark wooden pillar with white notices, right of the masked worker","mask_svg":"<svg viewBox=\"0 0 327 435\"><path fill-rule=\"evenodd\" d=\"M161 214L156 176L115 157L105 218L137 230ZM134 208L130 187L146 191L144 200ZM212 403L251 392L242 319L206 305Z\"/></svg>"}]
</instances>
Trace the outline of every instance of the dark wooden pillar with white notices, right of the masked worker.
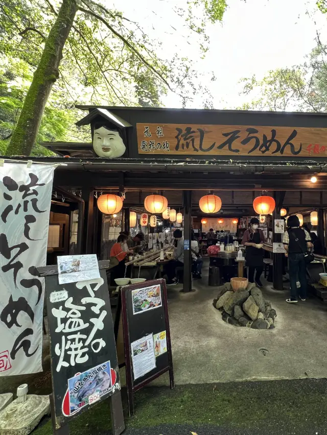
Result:
<instances>
[{"instance_id":1,"label":"dark wooden pillar with white notices, right of the masked worker","mask_svg":"<svg viewBox=\"0 0 327 435\"><path fill-rule=\"evenodd\" d=\"M283 201L285 198L285 191L275 191L275 209L272 213L272 242L281 243L283 234L275 233L275 219L282 219L281 208L283 206ZM273 272L272 272L272 283L275 290L283 290L283 256L284 254L272 254L273 259Z\"/></svg>"}]
</instances>

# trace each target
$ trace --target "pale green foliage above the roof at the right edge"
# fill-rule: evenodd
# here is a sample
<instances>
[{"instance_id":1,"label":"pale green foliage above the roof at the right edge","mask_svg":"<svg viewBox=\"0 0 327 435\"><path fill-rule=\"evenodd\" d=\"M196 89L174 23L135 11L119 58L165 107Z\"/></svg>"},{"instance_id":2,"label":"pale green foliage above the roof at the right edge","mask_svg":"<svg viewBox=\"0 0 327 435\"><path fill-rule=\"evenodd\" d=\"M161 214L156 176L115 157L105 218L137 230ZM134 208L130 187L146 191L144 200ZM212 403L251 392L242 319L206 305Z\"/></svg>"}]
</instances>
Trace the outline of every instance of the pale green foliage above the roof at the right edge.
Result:
<instances>
[{"instance_id":1,"label":"pale green foliage above the roof at the right edge","mask_svg":"<svg viewBox=\"0 0 327 435\"><path fill-rule=\"evenodd\" d=\"M320 44L306 62L292 68L269 71L262 80L242 79L243 94L251 102L247 110L327 111L327 47Z\"/></svg>"}]
</instances>

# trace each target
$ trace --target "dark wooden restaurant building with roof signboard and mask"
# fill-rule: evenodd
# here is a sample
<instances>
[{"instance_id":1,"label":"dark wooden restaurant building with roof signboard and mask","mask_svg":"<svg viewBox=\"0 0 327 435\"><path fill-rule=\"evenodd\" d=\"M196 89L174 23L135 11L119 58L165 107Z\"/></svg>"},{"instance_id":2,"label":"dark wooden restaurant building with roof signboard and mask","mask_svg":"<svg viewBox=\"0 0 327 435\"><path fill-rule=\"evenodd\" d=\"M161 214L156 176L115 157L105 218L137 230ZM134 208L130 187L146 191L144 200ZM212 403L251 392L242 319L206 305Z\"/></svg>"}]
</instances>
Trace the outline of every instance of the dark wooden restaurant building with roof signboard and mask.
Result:
<instances>
[{"instance_id":1,"label":"dark wooden restaurant building with roof signboard and mask","mask_svg":"<svg viewBox=\"0 0 327 435\"><path fill-rule=\"evenodd\" d=\"M68 253L97 253L99 259L107 259L122 230L132 235L142 231L148 240L153 232L182 227L184 240L191 240L192 228L201 235L211 225L215 231L226 230L228 223L227 231L241 237L251 216L258 216L253 201L260 196L273 198L275 204L262 225L275 289L283 290L284 253L272 252L273 244L282 241L273 225L283 219L282 209L287 215L301 214L305 222L316 213L313 230L322 256L326 254L327 115L78 108L85 110L85 117L77 125L90 126L92 142L45 142L56 155L33 158L66 164L54 177L50 224L59 225L60 241L48 264L56 262L56 255ZM115 215L104 215L97 206L97 199L106 194L123 198ZM181 224L160 213L155 226L142 225L145 198L153 194L164 196L168 207L182 213ZM215 213L205 213L199 206L208 194L221 200ZM136 216L134 226L131 212ZM210 224L202 224L203 219ZM184 244L183 292L192 289L189 247L190 241Z\"/></svg>"}]
</instances>

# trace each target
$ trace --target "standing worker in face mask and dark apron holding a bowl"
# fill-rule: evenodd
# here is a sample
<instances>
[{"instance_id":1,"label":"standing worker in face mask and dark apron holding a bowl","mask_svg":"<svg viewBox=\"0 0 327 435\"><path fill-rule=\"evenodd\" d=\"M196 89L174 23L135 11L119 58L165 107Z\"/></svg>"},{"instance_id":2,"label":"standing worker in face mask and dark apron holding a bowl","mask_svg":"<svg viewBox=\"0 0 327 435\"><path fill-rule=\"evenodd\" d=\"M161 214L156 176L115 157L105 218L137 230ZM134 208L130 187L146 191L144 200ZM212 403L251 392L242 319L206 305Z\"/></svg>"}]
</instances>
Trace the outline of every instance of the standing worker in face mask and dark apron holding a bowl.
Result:
<instances>
[{"instance_id":1,"label":"standing worker in face mask and dark apron holding a bowl","mask_svg":"<svg viewBox=\"0 0 327 435\"><path fill-rule=\"evenodd\" d=\"M262 244L264 241L264 233L259 229L259 219L252 218L250 228L243 235L242 245L246 246L246 266L249 268L249 282L255 282L258 287L262 287L260 277L264 270L264 250L257 248L256 245Z\"/></svg>"}]
</instances>

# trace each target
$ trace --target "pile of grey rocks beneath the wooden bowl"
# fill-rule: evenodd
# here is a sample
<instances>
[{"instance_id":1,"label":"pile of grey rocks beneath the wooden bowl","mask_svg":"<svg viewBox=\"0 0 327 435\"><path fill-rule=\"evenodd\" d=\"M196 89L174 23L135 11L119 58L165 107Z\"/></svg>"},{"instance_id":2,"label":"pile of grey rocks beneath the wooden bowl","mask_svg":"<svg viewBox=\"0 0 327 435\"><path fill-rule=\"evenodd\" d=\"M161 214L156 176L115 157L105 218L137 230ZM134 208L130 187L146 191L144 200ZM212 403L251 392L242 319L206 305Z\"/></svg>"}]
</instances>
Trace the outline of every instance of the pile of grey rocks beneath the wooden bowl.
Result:
<instances>
[{"instance_id":1,"label":"pile of grey rocks beneath the wooden bowl","mask_svg":"<svg viewBox=\"0 0 327 435\"><path fill-rule=\"evenodd\" d=\"M213 305L222 312L224 322L253 329L273 329L277 316L260 288L250 282L246 288L234 292L230 282L218 287Z\"/></svg>"}]
</instances>

